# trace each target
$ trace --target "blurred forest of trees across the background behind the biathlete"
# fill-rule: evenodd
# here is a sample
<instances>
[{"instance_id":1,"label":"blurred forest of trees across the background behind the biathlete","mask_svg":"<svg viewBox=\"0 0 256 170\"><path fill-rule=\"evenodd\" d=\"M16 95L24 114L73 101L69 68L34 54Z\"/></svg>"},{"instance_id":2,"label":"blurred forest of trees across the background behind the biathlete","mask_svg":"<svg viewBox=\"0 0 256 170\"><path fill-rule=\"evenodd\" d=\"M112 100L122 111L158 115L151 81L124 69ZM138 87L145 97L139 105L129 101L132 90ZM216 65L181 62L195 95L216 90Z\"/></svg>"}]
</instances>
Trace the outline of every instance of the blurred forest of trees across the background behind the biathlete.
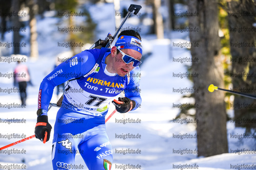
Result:
<instances>
[{"instance_id":1,"label":"blurred forest of trees across the background behind the biathlete","mask_svg":"<svg viewBox=\"0 0 256 170\"><path fill-rule=\"evenodd\" d=\"M28 27L29 34L29 55L38 57L37 44L37 21L44 18L46 11L55 11L58 18L58 26L65 24L67 27L82 27L83 32L68 32L66 41L93 43L95 41L95 32L97 23L92 19L88 8L91 4L96 3L115 3L113 8L116 12L121 12L122 17L126 15L125 9L121 4L125 1L115 0L0 0L0 12L7 13L10 11L26 11L29 19L21 20L18 16L11 18L1 15L1 39L5 40L4 28L14 26L16 28ZM143 2L144 4L140 4ZM256 119L256 108L232 108L230 104L255 104L255 100L244 98L230 93L215 91L209 93L207 87L214 84L221 88L234 89L239 92L241 89L249 89L250 94L255 93L255 77L231 77L231 74L256 74L256 62L249 62L243 59L255 59L255 45L250 47L231 46L231 43L248 42L255 43L255 1L253 0L145 0L134 1L134 4L143 6L144 13L140 16L140 26L147 25L150 29L144 30L141 34L153 35L155 38L170 38L169 32L175 28L181 27L198 27L198 32L189 32L191 42L199 42L199 47L190 49L192 58L199 58L199 62L193 62L188 66L189 72L199 72L200 78L191 79L193 86L199 88L198 93L186 95L193 98L199 104L199 108L181 109L180 115L193 116L199 120L197 126L198 150L199 156L211 156L227 151L227 134L226 122L231 117L226 110L233 110L233 119ZM177 17L174 12L188 10L198 12L198 17ZM59 12L83 12L82 20L75 17L57 16ZM99 11L101 12L101 11ZM252 16L238 16L235 13L254 13ZM104 14L102 14L104 16ZM65 23L64 23L65 22ZM119 26L120 18L115 20L116 23L109 25ZM252 31L234 31L234 28L251 28ZM254 28L254 30L253 30ZM101 28L104 29L104 28ZM21 42L19 32L13 32L13 41ZM101 37L104 39L105 37ZM81 52L81 48L71 47L73 54ZM14 47L12 54L20 54L21 49ZM231 60L232 59L232 60ZM236 60L236 61L235 61ZM240 62L241 61L241 62ZM226 103L225 103L226 102ZM189 114L188 110L195 109L195 114ZM236 123L237 127L245 127L247 133L255 133L255 124Z\"/></svg>"}]
</instances>

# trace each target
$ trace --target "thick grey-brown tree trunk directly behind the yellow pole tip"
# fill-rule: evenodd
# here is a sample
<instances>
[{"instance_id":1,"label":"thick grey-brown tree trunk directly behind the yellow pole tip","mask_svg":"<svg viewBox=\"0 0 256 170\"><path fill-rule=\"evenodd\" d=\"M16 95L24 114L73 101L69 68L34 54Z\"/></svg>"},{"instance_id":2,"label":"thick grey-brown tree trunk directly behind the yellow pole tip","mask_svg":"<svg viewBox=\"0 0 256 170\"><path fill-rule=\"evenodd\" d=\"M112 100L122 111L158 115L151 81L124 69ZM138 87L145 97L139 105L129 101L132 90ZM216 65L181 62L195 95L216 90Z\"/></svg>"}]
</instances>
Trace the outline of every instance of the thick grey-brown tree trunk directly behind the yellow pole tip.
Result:
<instances>
[{"instance_id":1,"label":"thick grey-brown tree trunk directly behind the yellow pole tip","mask_svg":"<svg viewBox=\"0 0 256 170\"><path fill-rule=\"evenodd\" d=\"M198 58L198 62L192 63L192 73L198 73L194 77L194 88L200 89L194 94L196 108L198 134L198 156L212 156L228 152L226 109L224 92L210 93L208 86L214 84L224 87L224 69L220 55L220 38L218 35L218 6L217 0L191 0L188 1L189 12L198 13L198 16L189 17L189 26L199 28L198 32L190 32L192 44L198 43L198 47L191 47L192 59Z\"/></svg>"}]
</instances>

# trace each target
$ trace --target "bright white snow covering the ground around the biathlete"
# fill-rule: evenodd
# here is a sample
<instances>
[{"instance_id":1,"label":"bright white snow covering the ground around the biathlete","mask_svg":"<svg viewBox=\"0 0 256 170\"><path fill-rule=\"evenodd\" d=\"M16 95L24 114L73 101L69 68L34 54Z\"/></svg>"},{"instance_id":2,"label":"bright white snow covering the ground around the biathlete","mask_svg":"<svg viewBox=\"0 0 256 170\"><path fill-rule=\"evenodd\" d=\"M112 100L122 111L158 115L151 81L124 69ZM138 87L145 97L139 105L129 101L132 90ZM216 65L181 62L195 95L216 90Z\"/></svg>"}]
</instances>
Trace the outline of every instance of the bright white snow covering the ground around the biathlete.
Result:
<instances>
[{"instance_id":1,"label":"bright white snow covering the ground around the biathlete","mask_svg":"<svg viewBox=\"0 0 256 170\"><path fill-rule=\"evenodd\" d=\"M99 5L93 8L99 8L97 11L103 11L104 6ZM107 10L103 12L107 12ZM99 18L94 19L99 21ZM53 69L55 56L67 51L66 48L56 47L57 41L65 40L65 34L55 33L57 30L57 26L54 25L55 22L56 18L52 17L46 17L37 22L37 28L40 31L40 35L38 35L40 58L36 61L28 58L26 62L34 86L27 88L26 108L0 108L0 147L21 139L12 137L8 139L7 136L13 133L26 135L26 137L34 134L38 88L42 79ZM106 29L105 32L102 33L103 36L108 33L108 30ZM24 35L28 35L28 32ZM11 34L6 35L9 41L11 37ZM227 122L229 153L226 154L198 158L196 138L176 138L181 134L194 136L196 131L192 124L170 122L179 113L178 108L172 107L173 103L184 102L184 99L181 99L182 94L173 93L172 88L192 87L189 80L172 77L173 72L186 72L185 64L190 64L173 62L172 57L191 56L185 48L171 47L172 42L177 39L188 40L188 33L175 32L171 37L172 39L162 40L156 40L152 36L143 37L145 48L147 48L147 51L151 51L152 55L141 66L141 96L143 101L141 108L127 114L115 113L106 124L113 148L112 169L256 169L255 142L253 139L231 138L230 134L244 133L243 128L235 128L233 123ZM26 52L28 52L28 48L23 49L23 53ZM0 72L2 74L10 73L15 65L15 63L0 62ZM12 79L0 78L0 88L10 89L12 87ZM56 103L57 99L54 91L51 102ZM8 94L1 91L0 103L2 105L19 104L19 94ZM110 106L108 114L112 110L114 110L113 105ZM49 123L52 126L54 125L56 111L57 108L52 108L48 113ZM24 119L26 123L8 124L4 122L5 119L12 118ZM133 119L136 120L136 123L120 123L123 119ZM133 134L139 138L119 138L118 136L122 134ZM0 169L8 169L5 166L10 166L13 163L23 165L23 167L26 165L26 169L31 170L52 169L52 144L50 141L43 144L38 139L33 138L14 145L6 149L5 152L0 151ZM26 153L8 154L8 152L15 152L12 149ZM230 153L233 150L241 149L254 150L255 152L254 154ZM135 153L129 153L131 150L134 150ZM184 150L186 152L189 150L192 153L183 154ZM124 151L128 151L128 153L124 153ZM77 155L75 159L76 165L83 165L83 169L87 169L80 155ZM251 165L255 166L251 167Z\"/></svg>"}]
</instances>

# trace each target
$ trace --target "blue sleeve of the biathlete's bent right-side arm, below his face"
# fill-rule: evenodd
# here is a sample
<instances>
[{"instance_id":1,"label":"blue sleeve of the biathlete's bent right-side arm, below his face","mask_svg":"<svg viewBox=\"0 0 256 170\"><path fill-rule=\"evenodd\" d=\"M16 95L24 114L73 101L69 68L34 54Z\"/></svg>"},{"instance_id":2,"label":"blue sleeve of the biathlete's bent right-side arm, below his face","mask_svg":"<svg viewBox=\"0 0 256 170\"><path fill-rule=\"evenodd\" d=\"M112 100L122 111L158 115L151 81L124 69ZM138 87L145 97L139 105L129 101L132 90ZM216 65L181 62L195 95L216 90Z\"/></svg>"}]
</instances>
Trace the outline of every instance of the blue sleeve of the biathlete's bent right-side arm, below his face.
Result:
<instances>
[{"instance_id":1,"label":"blue sleeve of the biathlete's bent right-side arm, below his face","mask_svg":"<svg viewBox=\"0 0 256 170\"><path fill-rule=\"evenodd\" d=\"M138 107L141 107L141 90L140 90L140 79L141 79L141 71L140 67L137 66L133 68L130 73L130 83L125 88L125 96L136 102L136 106L132 110L136 110Z\"/></svg>"}]
</instances>

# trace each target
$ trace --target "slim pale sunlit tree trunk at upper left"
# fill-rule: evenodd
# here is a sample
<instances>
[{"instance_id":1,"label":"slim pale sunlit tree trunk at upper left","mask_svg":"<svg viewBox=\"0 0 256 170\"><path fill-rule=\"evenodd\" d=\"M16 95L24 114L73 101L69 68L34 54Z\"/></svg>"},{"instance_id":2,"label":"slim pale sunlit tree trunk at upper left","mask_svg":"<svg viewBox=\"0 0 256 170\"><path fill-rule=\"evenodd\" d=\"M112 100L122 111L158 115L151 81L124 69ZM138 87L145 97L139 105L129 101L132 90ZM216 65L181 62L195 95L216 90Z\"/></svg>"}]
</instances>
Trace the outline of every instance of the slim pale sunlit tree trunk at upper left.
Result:
<instances>
[{"instance_id":1,"label":"slim pale sunlit tree trunk at upper left","mask_svg":"<svg viewBox=\"0 0 256 170\"><path fill-rule=\"evenodd\" d=\"M36 32L35 3L34 0L28 0L29 7L29 28L30 28L30 57L38 57L38 44Z\"/></svg>"}]
</instances>

